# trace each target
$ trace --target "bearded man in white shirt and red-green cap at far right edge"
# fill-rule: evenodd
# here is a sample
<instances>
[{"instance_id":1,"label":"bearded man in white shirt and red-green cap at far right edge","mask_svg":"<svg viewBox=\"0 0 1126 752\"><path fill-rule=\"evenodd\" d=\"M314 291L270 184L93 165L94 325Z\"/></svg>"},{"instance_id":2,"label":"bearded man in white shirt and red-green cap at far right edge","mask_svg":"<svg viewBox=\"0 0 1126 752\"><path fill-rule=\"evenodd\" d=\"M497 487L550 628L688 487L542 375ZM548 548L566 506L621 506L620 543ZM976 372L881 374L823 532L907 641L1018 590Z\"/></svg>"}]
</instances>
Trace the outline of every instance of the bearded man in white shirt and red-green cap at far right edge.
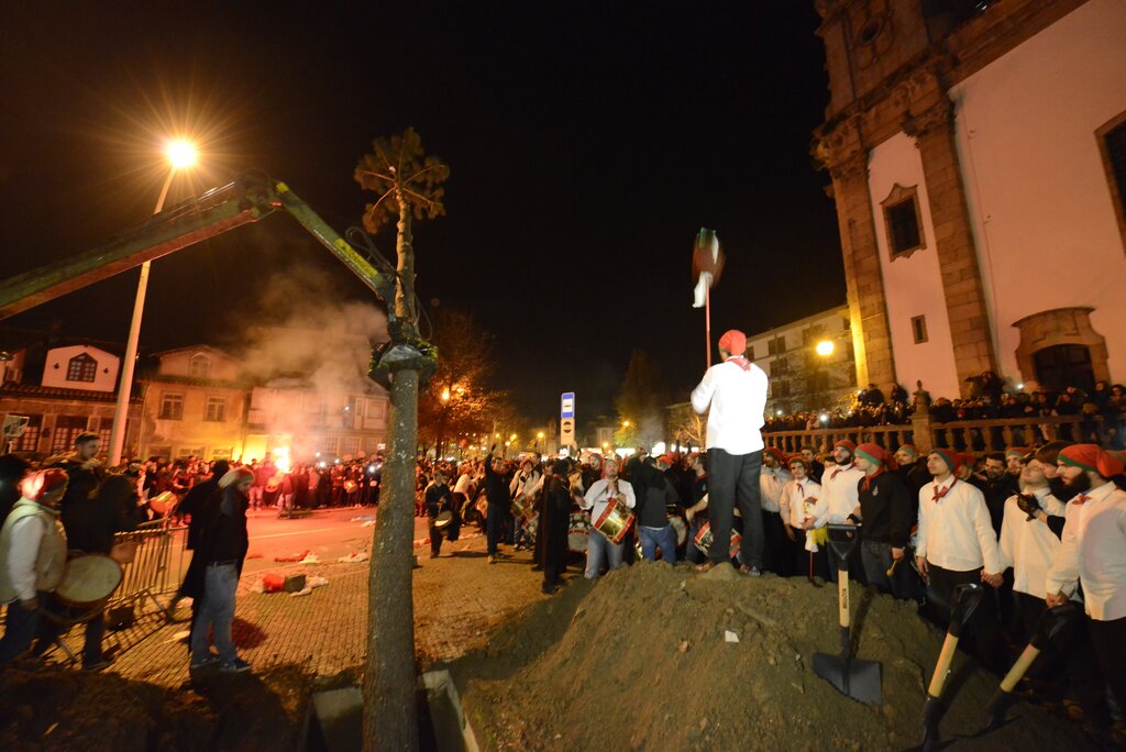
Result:
<instances>
[{"instance_id":1,"label":"bearded man in white shirt and red-green cap at far right edge","mask_svg":"<svg viewBox=\"0 0 1126 752\"><path fill-rule=\"evenodd\" d=\"M1126 707L1126 491L1110 481L1123 473L1118 457L1094 444L1060 450L1060 475L1076 493L1064 511L1060 548L1046 578L1047 606L1083 589L1088 628L1102 675Z\"/></svg>"}]
</instances>

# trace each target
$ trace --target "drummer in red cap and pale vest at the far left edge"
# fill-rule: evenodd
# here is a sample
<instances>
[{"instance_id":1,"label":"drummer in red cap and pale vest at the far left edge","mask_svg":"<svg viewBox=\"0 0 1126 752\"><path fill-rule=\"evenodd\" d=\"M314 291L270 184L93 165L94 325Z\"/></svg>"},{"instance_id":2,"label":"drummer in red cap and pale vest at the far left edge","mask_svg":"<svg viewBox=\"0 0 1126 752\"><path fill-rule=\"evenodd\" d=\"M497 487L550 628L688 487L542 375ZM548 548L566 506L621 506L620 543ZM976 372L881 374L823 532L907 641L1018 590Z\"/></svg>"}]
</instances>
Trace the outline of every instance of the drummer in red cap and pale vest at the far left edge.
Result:
<instances>
[{"instance_id":1,"label":"drummer in red cap and pale vest at the far left edge","mask_svg":"<svg viewBox=\"0 0 1126 752\"><path fill-rule=\"evenodd\" d=\"M62 582L66 534L59 508L68 481L55 468L28 476L0 529L0 603L8 605L0 666L32 646L43 620L42 601Z\"/></svg>"}]
</instances>

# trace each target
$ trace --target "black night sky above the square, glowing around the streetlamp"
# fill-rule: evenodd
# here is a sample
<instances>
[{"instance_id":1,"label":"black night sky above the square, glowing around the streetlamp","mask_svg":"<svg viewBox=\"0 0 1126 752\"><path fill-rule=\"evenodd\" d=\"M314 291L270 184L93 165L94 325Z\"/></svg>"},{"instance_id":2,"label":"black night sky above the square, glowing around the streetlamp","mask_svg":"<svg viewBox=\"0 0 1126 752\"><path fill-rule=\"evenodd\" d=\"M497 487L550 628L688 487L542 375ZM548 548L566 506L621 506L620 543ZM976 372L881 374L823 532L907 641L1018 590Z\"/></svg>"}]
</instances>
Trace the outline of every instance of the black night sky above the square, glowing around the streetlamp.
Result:
<instances>
[{"instance_id":1,"label":"black night sky above the square, glowing around the streetlamp","mask_svg":"<svg viewBox=\"0 0 1126 752\"><path fill-rule=\"evenodd\" d=\"M417 223L422 301L497 337L497 386L536 420L579 394L610 408L631 349L674 399L704 369L690 251L718 231L715 338L844 299L837 221L808 156L828 101L812 0L788 2L5 2L5 274L145 218L163 136L202 142L170 200L260 168L330 224L359 224L352 180L378 135L414 126L452 170L447 216ZM376 241L393 257L393 231ZM366 289L284 216L153 265L142 351L232 346L261 286L309 267ZM62 322L124 342L136 272L3 324Z\"/></svg>"}]
</instances>

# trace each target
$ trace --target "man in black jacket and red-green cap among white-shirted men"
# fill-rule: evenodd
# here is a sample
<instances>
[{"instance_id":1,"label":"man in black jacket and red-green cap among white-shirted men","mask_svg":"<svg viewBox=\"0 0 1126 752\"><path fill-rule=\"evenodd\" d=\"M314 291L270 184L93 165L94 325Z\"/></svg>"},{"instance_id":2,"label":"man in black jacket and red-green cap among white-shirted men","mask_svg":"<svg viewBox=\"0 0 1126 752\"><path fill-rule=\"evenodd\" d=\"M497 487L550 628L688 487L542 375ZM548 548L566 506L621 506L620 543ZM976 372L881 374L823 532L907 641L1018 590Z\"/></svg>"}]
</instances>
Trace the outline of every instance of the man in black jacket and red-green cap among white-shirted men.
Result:
<instances>
[{"instance_id":1,"label":"man in black jacket and red-green cap among white-shirted men","mask_svg":"<svg viewBox=\"0 0 1126 752\"><path fill-rule=\"evenodd\" d=\"M864 473L857 487L864 534L860 562L868 584L879 592L892 593L900 600L917 597L909 566L895 564L892 576L887 571L900 562L911 537L914 522L911 493L895 473L887 472L886 453L878 444L861 444L856 448L856 466Z\"/></svg>"}]
</instances>

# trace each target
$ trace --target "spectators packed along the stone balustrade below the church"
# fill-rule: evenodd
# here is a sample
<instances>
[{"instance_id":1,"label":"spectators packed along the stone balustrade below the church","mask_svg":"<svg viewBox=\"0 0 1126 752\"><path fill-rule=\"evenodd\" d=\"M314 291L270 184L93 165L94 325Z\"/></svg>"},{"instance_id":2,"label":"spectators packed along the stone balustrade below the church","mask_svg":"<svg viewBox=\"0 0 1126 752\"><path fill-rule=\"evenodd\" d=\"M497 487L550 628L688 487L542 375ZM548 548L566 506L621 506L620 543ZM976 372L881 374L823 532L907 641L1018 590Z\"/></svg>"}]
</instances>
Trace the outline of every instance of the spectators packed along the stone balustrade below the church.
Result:
<instances>
[{"instance_id":1,"label":"spectators packed along the stone balustrade below the church","mask_svg":"<svg viewBox=\"0 0 1126 752\"><path fill-rule=\"evenodd\" d=\"M816 429L869 428L906 426L917 410L930 413L936 423L963 421L1024 419L1078 415L1084 439L1114 449L1126 449L1126 386L1096 382L1091 392L1069 386L1060 392L1037 388L1004 391L992 371L976 381L972 396L950 400L940 396L931 401L926 392L912 395L899 384L891 385L887 395L875 384L854 394L847 405L807 410L794 414L768 415L762 430L806 431Z\"/></svg>"}]
</instances>

